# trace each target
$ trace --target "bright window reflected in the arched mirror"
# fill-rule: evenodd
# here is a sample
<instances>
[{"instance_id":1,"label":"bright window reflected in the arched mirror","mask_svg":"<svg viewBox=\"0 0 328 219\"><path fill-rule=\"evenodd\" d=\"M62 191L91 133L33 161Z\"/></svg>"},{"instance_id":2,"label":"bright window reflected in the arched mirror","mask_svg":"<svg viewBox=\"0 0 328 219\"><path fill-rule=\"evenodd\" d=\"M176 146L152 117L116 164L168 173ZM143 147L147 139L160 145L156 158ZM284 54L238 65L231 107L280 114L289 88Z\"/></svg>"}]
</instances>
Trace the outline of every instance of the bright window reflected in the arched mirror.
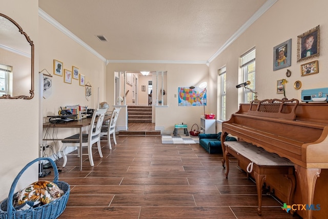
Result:
<instances>
[{"instance_id":1,"label":"bright window reflected in the arched mirror","mask_svg":"<svg viewBox=\"0 0 328 219\"><path fill-rule=\"evenodd\" d=\"M12 95L12 67L0 64L0 96Z\"/></svg>"}]
</instances>

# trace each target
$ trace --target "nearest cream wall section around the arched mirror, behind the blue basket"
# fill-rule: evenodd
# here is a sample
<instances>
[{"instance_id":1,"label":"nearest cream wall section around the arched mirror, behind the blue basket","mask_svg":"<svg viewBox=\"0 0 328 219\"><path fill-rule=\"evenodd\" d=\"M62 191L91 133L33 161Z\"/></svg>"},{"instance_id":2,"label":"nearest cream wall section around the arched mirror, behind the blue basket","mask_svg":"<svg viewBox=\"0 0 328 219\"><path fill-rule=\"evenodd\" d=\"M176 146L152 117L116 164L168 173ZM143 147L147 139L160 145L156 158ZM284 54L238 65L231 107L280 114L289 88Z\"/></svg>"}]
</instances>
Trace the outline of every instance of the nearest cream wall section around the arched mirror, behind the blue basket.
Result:
<instances>
[{"instance_id":1,"label":"nearest cream wall section around the arched mirror, behind the blue basket","mask_svg":"<svg viewBox=\"0 0 328 219\"><path fill-rule=\"evenodd\" d=\"M0 200L8 197L17 173L38 157L38 2L34 0L0 0L1 13L15 20L35 45L34 98L31 100L0 99ZM28 42L26 42L28 43ZM37 181L34 165L21 178L17 189Z\"/></svg>"}]
</instances>

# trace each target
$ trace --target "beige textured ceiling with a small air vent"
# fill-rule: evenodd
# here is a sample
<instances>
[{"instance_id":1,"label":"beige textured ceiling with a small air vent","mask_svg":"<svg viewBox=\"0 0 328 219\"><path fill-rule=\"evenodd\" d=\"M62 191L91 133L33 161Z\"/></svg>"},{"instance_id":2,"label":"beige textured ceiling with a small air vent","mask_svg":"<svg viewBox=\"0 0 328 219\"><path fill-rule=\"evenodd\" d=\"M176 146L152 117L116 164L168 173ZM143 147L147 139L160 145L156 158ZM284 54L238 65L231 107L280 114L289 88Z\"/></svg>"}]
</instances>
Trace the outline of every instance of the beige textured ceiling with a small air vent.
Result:
<instances>
[{"instance_id":1,"label":"beige textured ceiling with a small air vent","mask_svg":"<svg viewBox=\"0 0 328 219\"><path fill-rule=\"evenodd\" d=\"M39 8L105 59L207 61L264 3L39 0Z\"/></svg>"}]
</instances>

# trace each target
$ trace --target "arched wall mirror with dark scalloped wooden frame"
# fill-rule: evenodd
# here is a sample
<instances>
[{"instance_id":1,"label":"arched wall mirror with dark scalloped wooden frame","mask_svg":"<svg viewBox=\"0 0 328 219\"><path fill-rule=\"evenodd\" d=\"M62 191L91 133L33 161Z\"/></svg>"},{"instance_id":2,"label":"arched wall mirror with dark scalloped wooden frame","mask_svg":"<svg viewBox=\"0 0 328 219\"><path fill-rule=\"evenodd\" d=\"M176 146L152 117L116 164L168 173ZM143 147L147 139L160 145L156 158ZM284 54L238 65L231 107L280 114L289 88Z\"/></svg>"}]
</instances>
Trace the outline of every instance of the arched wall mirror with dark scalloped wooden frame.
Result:
<instances>
[{"instance_id":1,"label":"arched wall mirror with dark scalloped wooden frame","mask_svg":"<svg viewBox=\"0 0 328 219\"><path fill-rule=\"evenodd\" d=\"M0 13L0 99L33 96L33 41L13 19Z\"/></svg>"}]
</instances>

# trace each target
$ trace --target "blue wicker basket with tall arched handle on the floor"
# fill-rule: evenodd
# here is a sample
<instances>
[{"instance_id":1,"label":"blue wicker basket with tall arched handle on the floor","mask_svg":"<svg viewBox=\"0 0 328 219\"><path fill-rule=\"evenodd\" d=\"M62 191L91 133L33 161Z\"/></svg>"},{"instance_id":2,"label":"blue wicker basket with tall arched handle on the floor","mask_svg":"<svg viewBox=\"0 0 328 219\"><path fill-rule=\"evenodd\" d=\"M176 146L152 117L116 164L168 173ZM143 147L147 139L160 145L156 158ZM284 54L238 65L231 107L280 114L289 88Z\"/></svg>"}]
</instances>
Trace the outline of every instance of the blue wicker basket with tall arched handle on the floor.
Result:
<instances>
[{"instance_id":1,"label":"blue wicker basket with tall arched handle on the floor","mask_svg":"<svg viewBox=\"0 0 328 219\"><path fill-rule=\"evenodd\" d=\"M28 210L17 211L13 207L13 197L15 187L17 182L24 173L24 171L30 167L33 163L47 160L51 163L54 170L54 180L55 183L61 190L64 191L64 194L57 200L50 202L49 204L39 206L36 208L31 208ZM30 163L28 163L15 178L14 182L11 185L8 198L5 199L0 205L0 218L1 219L48 219L48 218L57 218L66 208L66 204L68 201L68 196L70 195L70 185L65 182L58 181L58 169L56 164L50 158L37 158Z\"/></svg>"}]
</instances>

